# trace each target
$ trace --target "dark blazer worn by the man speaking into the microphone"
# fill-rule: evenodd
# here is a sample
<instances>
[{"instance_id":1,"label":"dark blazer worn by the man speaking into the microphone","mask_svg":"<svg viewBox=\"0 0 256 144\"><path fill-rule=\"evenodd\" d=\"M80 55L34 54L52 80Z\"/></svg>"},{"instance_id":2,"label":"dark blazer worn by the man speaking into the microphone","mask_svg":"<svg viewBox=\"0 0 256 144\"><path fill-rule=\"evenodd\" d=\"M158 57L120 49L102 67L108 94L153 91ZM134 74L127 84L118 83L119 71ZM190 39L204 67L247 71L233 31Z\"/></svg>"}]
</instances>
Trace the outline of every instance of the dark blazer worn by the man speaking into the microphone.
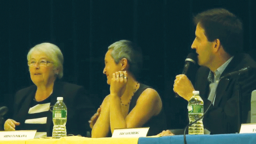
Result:
<instances>
[{"instance_id":1,"label":"dark blazer worn by the man speaking into the microphone","mask_svg":"<svg viewBox=\"0 0 256 144\"><path fill-rule=\"evenodd\" d=\"M255 68L256 62L247 54L236 55L221 74L221 77L248 66ZM201 66L196 76L195 89L199 90L200 96L204 100L204 111L211 103L207 100L209 71L207 67ZM243 75L221 79L216 89L214 106L211 105L204 116L204 128L209 130L211 134L239 132L241 124L246 123L247 114L250 110L251 92L254 89L256 89L255 69Z\"/></svg>"}]
</instances>

